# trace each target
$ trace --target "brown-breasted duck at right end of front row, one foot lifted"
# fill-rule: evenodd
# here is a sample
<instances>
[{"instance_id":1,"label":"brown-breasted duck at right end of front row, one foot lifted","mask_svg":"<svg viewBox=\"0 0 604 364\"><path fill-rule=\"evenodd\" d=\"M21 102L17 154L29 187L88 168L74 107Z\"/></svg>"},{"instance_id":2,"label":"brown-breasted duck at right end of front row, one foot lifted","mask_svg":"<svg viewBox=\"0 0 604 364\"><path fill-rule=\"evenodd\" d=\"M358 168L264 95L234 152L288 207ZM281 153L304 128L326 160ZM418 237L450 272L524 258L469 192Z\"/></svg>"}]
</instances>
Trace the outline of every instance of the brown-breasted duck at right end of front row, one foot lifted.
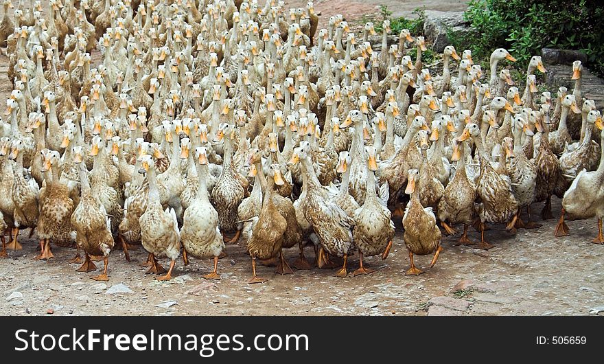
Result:
<instances>
[{"instance_id":1,"label":"brown-breasted duck at right end of front row, one foot lifted","mask_svg":"<svg viewBox=\"0 0 604 364\"><path fill-rule=\"evenodd\" d=\"M405 275L420 275L423 273L413 262L414 255L428 255L434 253L430 267L436 264L443 248L441 247L441 230L437 226L437 218L432 212L432 207L423 207L419 202L419 190L415 187L419 180L419 170L410 169L407 174L407 187L405 193L410 195L405 214L403 227L405 245L409 251L410 268Z\"/></svg>"}]
</instances>

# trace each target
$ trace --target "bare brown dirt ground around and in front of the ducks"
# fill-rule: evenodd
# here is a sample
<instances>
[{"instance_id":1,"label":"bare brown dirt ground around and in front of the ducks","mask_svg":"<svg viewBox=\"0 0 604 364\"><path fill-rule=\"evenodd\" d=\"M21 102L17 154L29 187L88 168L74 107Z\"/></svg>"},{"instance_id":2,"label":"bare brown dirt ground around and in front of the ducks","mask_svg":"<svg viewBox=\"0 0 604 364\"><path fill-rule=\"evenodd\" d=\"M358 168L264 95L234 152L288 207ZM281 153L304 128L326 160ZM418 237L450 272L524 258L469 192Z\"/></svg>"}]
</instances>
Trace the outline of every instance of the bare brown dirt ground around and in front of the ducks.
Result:
<instances>
[{"instance_id":1,"label":"bare brown dirt ground around and in front of the ducks","mask_svg":"<svg viewBox=\"0 0 604 364\"><path fill-rule=\"evenodd\" d=\"M306 1L286 1L304 6ZM322 19L342 13L360 19L386 3L395 16L425 5L428 10L458 11L463 1L315 1ZM447 9L445 9L447 8ZM323 26L323 25L320 25ZM0 102L10 95L6 77L8 58L0 56ZM554 214L560 204L554 203ZM533 215L541 207L535 205ZM526 218L526 216L525 216ZM366 265L368 276L334 277L334 269L295 271L277 275L272 267L259 266L266 284L247 284L251 262L244 248L227 246L227 258L219 263L220 281L201 275L211 270L210 261L177 262L176 279L157 282L139 263L146 260L141 247L132 249L132 262L121 251L111 254L110 281L95 282L98 272L78 273L69 264L75 249L54 249L49 262L36 261L37 240L21 234L22 251L10 251L0 260L1 315L589 315L604 312L604 247L591 244L596 236L594 220L568 223L571 236L553 238L554 220L535 230L512 236L493 226L487 240L489 251L454 247L454 238L443 239L439 262L428 269L432 257L417 257L426 273L405 276L408 253L402 240L400 220L393 251L386 260L373 257ZM472 240L480 236L471 231ZM307 248L312 259L312 249ZM286 251L290 262L297 249ZM167 267L167 260L161 260ZM97 262L102 269L102 262ZM349 260L349 272L358 256ZM115 285L120 285L114 287ZM114 293L124 288L131 293ZM454 288L455 287L455 288ZM111 290L109 289L111 288ZM109 290L109 292L108 292ZM602 314L601 314L602 315Z\"/></svg>"}]
</instances>

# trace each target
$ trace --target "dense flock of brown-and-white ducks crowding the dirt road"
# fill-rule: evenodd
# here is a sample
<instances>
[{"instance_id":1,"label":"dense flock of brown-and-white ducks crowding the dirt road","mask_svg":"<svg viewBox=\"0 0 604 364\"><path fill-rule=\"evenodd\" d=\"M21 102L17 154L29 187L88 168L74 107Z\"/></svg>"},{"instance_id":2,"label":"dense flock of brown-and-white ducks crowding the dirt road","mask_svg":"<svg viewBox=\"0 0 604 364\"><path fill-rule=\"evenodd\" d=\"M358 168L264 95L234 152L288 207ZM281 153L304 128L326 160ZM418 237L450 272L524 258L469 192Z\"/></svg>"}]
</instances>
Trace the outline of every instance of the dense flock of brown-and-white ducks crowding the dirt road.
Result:
<instances>
[{"instance_id":1,"label":"dense flock of brown-and-white ducks crowding the dirt road","mask_svg":"<svg viewBox=\"0 0 604 364\"><path fill-rule=\"evenodd\" d=\"M579 61L572 93L560 87L552 98L535 95L535 71L546 70L534 56L521 96L498 69L515 61L506 49L491 54L487 82L471 52L452 46L431 74L422 36L402 30L388 46L386 20L375 52L372 23L357 37L332 16L317 31L312 2L3 6L13 85L0 123L3 257L30 228L38 260L74 245L71 262L84 252L78 271L103 259L94 280L108 280L113 249L129 261L137 244L148 273L165 273L157 258L170 259L158 280L172 278L181 256L213 259L204 277L220 279L225 243L239 242L259 283L257 260L292 273L283 249L299 249L294 268L314 266L310 244L319 268L343 258L336 275L345 277L353 253L354 275L371 273L364 258L386 259L402 216L407 273L419 275L413 257L437 262L439 225L447 234L463 225L459 244L489 249L487 223L538 227L529 207L544 202L551 218L553 195L564 207L556 236L568 234L566 216L595 216L594 242L604 242L603 122L582 99ZM410 46L417 54L405 54Z\"/></svg>"}]
</instances>

